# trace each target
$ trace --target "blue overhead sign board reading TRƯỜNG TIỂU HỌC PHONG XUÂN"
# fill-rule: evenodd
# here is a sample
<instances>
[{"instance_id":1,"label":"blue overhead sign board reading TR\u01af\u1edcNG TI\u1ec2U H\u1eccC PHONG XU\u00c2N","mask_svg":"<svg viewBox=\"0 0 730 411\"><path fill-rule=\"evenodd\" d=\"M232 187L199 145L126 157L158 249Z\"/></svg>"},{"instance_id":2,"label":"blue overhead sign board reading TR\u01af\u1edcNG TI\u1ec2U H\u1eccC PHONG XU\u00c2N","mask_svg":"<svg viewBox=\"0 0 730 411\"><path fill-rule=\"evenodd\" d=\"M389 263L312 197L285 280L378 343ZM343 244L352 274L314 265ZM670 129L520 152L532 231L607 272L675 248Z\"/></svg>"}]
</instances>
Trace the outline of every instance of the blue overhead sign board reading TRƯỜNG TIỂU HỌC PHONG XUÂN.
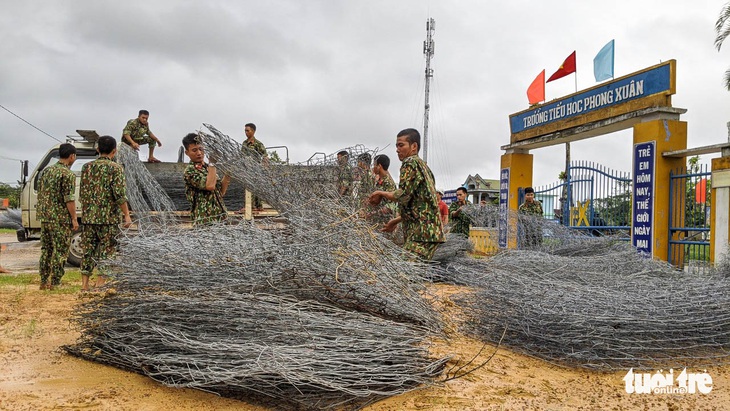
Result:
<instances>
[{"instance_id":1,"label":"blue overhead sign board reading TR\u01af\u1edcNG TI\u1ec2U H\u1eccC PHONG XU\u00c2N","mask_svg":"<svg viewBox=\"0 0 730 411\"><path fill-rule=\"evenodd\" d=\"M676 60L510 115L511 143L650 107L671 107Z\"/></svg>"}]
</instances>

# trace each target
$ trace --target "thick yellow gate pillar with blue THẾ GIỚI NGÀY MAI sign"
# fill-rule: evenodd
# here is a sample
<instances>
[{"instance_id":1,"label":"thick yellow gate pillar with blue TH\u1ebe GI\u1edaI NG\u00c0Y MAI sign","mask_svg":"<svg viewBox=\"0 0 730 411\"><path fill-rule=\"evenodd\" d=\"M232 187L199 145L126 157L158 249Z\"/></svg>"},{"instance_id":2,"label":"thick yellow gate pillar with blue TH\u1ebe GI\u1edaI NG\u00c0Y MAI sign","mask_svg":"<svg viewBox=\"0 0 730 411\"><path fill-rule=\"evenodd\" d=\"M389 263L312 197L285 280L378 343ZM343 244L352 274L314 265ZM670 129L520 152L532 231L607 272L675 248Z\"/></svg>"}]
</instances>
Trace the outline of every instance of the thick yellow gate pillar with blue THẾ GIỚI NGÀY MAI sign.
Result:
<instances>
[{"instance_id":1,"label":"thick yellow gate pillar with blue TH\u1ebe GI\u1edaI NG\u00c0Y MAI sign","mask_svg":"<svg viewBox=\"0 0 730 411\"><path fill-rule=\"evenodd\" d=\"M665 158L662 153L686 148L687 123L684 121L652 120L634 125L631 243L639 251L659 260L667 261L669 253L672 218L669 215L669 172L685 165L684 157ZM680 207L683 211L684 204ZM677 215L684 216L684 213ZM676 219L672 221L674 226L683 223Z\"/></svg>"}]
</instances>

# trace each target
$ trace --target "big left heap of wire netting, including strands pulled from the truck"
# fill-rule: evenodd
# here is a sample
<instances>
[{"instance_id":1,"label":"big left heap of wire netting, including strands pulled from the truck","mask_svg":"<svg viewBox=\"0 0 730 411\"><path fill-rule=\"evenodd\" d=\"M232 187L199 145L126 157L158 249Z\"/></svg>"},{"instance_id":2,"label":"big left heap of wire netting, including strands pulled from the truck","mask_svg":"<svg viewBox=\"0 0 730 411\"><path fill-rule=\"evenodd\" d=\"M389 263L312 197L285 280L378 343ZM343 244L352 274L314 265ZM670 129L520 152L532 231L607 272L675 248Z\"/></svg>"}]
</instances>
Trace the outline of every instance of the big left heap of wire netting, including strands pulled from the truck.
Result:
<instances>
[{"instance_id":1,"label":"big left heap of wire netting, including strands pulled from the truck","mask_svg":"<svg viewBox=\"0 0 730 411\"><path fill-rule=\"evenodd\" d=\"M67 350L277 407L356 408L433 383L448 358L429 354L441 335L424 299L429 265L358 218L362 198L339 196L335 156L268 163L209 129L221 172L265 187L254 194L281 216L190 229L123 148L139 230L104 262L114 292L80 307L82 336Z\"/></svg>"}]
</instances>

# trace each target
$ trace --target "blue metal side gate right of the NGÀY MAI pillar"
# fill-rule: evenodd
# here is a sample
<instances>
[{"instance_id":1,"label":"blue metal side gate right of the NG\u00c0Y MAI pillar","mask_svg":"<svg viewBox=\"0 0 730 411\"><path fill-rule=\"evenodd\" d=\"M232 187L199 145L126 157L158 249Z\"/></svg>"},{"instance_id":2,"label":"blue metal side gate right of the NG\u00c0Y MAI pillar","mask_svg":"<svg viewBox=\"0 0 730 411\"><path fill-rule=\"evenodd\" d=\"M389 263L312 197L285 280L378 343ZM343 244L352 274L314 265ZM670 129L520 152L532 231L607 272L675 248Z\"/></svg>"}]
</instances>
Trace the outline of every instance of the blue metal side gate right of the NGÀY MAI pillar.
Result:
<instances>
[{"instance_id":1,"label":"blue metal side gate right of the NG\u00c0Y MAI pillar","mask_svg":"<svg viewBox=\"0 0 730 411\"><path fill-rule=\"evenodd\" d=\"M669 175L668 260L685 271L704 271L710 263L710 185L707 165Z\"/></svg>"}]
</instances>

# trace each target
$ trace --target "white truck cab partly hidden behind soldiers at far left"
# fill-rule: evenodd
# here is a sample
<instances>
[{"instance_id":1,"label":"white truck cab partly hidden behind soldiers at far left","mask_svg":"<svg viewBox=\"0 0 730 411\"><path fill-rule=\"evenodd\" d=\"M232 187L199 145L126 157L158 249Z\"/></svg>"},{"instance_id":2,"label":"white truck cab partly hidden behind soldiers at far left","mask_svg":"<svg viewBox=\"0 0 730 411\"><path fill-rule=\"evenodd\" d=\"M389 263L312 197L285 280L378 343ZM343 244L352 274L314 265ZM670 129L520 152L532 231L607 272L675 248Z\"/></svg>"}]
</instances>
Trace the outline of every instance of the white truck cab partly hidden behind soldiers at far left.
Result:
<instances>
[{"instance_id":1,"label":"white truck cab partly hidden behind soldiers at far left","mask_svg":"<svg viewBox=\"0 0 730 411\"><path fill-rule=\"evenodd\" d=\"M79 187L81 186L81 167L84 164L97 158L96 142L99 135L94 130L76 130L78 136L67 136L66 142L76 147L76 162L71 167L71 171L76 175L76 218L81 223L81 204L78 201ZM38 220L37 204L38 190L40 189L40 177L43 170L55 164L59 159L58 154L60 144L51 147L48 152L41 157L35 170L28 175L28 168L23 168L23 176L21 178L22 191L20 195L20 213L23 228L17 230L18 241L28 241L39 239L41 234L41 222ZM73 233L71 238L71 247L68 254L68 262L78 266L81 264L83 250L81 249L81 231Z\"/></svg>"}]
</instances>

